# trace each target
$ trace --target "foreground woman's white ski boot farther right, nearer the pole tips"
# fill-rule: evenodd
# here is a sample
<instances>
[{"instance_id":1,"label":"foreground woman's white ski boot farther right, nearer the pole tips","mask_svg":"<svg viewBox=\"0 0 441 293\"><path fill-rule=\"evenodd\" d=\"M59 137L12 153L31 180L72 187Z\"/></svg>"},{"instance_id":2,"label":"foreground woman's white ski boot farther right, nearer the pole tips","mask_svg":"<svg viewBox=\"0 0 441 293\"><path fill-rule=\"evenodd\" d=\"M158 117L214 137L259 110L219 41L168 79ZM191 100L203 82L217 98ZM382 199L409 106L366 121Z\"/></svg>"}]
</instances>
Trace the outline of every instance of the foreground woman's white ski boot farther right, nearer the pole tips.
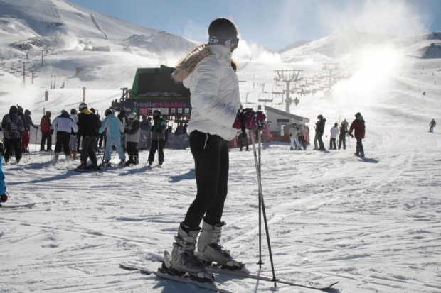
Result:
<instances>
[{"instance_id":1,"label":"foreground woman's white ski boot farther right, nearer the pole tips","mask_svg":"<svg viewBox=\"0 0 441 293\"><path fill-rule=\"evenodd\" d=\"M198 240L198 257L206 263L211 265L211 262L216 262L228 270L240 270L245 267L243 262L235 260L230 255L230 251L226 250L219 244L222 235L222 226L224 221L211 226L203 219L202 233Z\"/></svg>"}]
</instances>

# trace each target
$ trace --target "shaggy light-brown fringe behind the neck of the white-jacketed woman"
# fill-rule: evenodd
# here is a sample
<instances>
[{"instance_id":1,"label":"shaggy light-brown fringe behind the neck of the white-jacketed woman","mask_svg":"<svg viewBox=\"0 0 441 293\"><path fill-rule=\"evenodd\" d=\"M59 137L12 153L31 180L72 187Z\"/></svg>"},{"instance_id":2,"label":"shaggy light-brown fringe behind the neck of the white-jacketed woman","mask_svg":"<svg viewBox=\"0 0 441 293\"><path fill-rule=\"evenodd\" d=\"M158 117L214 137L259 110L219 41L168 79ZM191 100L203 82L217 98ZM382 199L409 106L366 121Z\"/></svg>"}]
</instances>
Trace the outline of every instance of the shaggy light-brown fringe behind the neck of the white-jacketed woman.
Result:
<instances>
[{"instance_id":1,"label":"shaggy light-brown fringe behind the neck of the white-jacketed woman","mask_svg":"<svg viewBox=\"0 0 441 293\"><path fill-rule=\"evenodd\" d=\"M184 59L179 61L178 65L176 65L176 70L171 74L171 76L176 82L183 82L184 79L186 79L188 75L193 72L198 63L209 55L215 55L213 46L207 44L199 45L188 53ZM233 59L231 60L231 67L233 67L233 70L236 71L237 64Z\"/></svg>"}]
</instances>

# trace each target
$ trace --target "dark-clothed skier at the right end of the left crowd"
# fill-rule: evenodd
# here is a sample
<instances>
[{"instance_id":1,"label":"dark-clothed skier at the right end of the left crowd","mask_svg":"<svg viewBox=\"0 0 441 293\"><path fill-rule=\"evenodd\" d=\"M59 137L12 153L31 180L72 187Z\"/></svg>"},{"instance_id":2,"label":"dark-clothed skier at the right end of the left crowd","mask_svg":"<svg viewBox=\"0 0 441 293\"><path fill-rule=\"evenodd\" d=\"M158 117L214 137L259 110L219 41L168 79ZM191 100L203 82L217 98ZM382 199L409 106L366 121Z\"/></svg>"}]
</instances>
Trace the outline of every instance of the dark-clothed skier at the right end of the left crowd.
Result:
<instances>
[{"instance_id":1,"label":"dark-clothed skier at the right end of the left crowd","mask_svg":"<svg viewBox=\"0 0 441 293\"><path fill-rule=\"evenodd\" d=\"M152 138L152 142L150 143L148 167L152 167L156 150L158 150L159 165L161 166L164 162L164 142L166 137L166 128L166 121L161 118L161 111L153 111L153 123L152 128L150 129L150 132L152 133L150 136Z\"/></svg>"}]
</instances>

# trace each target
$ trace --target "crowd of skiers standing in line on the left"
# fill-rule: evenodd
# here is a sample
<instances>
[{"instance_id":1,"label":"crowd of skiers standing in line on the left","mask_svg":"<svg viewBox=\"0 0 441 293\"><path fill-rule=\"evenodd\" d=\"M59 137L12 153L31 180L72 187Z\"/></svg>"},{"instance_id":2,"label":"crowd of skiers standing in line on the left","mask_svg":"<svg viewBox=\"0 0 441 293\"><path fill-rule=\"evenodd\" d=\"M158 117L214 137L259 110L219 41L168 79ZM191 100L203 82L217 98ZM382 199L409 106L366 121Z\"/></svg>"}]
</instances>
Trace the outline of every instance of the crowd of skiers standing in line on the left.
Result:
<instances>
[{"instance_id":1,"label":"crowd of skiers standing in line on the left","mask_svg":"<svg viewBox=\"0 0 441 293\"><path fill-rule=\"evenodd\" d=\"M110 166L110 153L114 148L119 155L119 165L137 165L139 163L137 145L141 129L152 133L149 166L154 161L156 151L159 153L159 165L164 162L166 121L161 118L159 110L153 112L153 122L152 118L147 118L146 115L142 116L142 122L140 122L136 113L127 114L124 108L119 111L118 116L115 116L114 110L107 109L105 118L101 121L95 109L89 109L85 102L80 103L78 111L71 109L68 113L62 110L53 121L51 121L51 115L51 111L46 111L38 127L33 124L31 111L26 109L23 113L21 106L11 106L9 114L6 114L2 120L3 128L1 129L4 133L4 142L1 142L4 147L2 155L6 164L11 155L15 155L16 162L20 162L22 154L29 152L31 126L41 131L40 151L54 152L54 164L58 162L61 152L64 153L67 162L76 160L77 153L80 153L80 165L77 169L100 170L101 165ZM52 150L55 131L55 150ZM95 152L102 148L102 145L104 145L105 153L100 164ZM127 162L125 153L129 156ZM88 159L90 159L90 165L87 165Z\"/></svg>"}]
</instances>

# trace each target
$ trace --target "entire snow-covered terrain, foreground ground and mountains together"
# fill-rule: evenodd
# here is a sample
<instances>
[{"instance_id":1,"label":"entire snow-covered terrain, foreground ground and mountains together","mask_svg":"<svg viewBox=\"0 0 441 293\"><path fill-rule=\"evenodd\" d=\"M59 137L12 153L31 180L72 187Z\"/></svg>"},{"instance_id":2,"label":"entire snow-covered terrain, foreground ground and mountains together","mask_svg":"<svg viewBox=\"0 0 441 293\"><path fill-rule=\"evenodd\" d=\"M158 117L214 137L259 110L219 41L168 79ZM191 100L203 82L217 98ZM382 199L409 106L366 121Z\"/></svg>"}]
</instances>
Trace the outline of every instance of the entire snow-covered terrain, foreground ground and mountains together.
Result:
<instances>
[{"instance_id":1,"label":"entire snow-covered terrain, foreground ground and mountains together","mask_svg":"<svg viewBox=\"0 0 441 293\"><path fill-rule=\"evenodd\" d=\"M290 110L310 119L312 141L319 114L327 120L326 149L334 123L351 123L356 112L366 121L364 158L354 156L356 140L349 136L346 149L326 152L312 150L313 143L304 151L263 143L262 193L276 277L339 281L329 292L440 292L441 136L437 127L427 131L432 118L441 119L441 59L422 57L440 50L438 37L341 31L282 55L240 41L234 55L243 106L285 109L285 84L275 70L301 70L302 80L291 84L299 104ZM55 118L62 109L78 109L83 87L87 104L102 114L119 99L120 87L132 86L137 67L174 65L193 44L68 1L0 0L0 117L19 104L38 125L45 110ZM344 74L331 90L324 86L330 79L324 62ZM23 87L21 74L30 68L38 77L32 84L29 74ZM314 93L297 93L313 87ZM31 152L3 166L6 204L36 205L0 209L0 292L207 292L119 268L129 262L156 270L172 249L196 195L190 150L165 149L161 168L148 169L149 152L142 150L134 167L80 173L66 170L79 163L63 155L52 165L53 153L38 152L40 136L31 128ZM229 157L221 244L250 272L272 275L265 233L264 265L256 264L254 153L232 149ZM118 161L112 153L111 162ZM230 292L313 292L228 275L217 281Z\"/></svg>"}]
</instances>

